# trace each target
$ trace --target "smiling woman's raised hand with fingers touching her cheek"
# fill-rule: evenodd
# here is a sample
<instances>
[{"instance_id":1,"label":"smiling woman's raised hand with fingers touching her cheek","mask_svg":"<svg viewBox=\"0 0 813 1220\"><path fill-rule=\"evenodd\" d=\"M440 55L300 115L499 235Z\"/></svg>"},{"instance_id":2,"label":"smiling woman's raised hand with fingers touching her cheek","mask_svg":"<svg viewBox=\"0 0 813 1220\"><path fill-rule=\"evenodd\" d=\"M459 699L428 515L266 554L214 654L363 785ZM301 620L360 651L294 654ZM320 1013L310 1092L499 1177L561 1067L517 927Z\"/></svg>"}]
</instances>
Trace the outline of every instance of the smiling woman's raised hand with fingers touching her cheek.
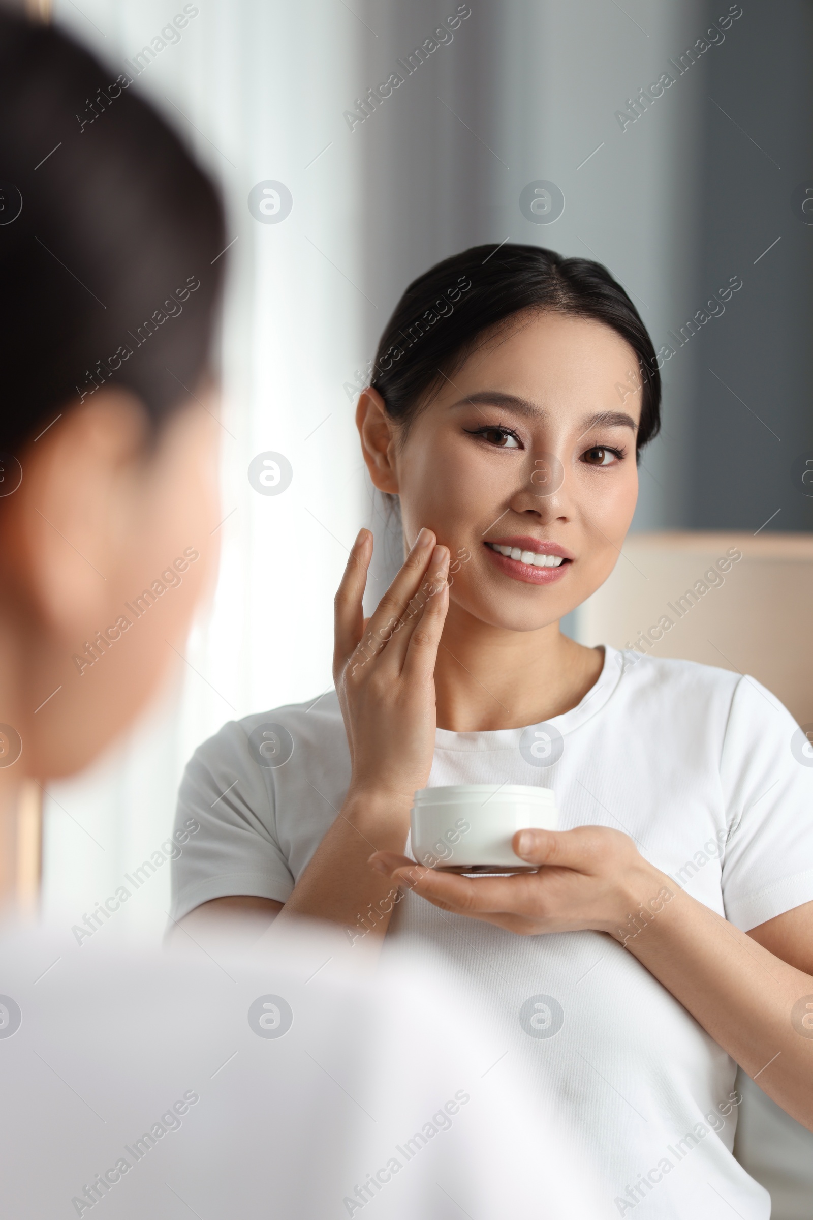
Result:
<instances>
[{"instance_id":1,"label":"smiling woman's raised hand with fingers touching her cheek","mask_svg":"<svg viewBox=\"0 0 813 1220\"><path fill-rule=\"evenodd\" d=\"M352 762L347 797L384 798L408 824L435 748L434 669L449 608L450 555L422 529L364 623L372 554L373 536L362 529L335 598L333 676Z\"/></svg>"}]
</instances>

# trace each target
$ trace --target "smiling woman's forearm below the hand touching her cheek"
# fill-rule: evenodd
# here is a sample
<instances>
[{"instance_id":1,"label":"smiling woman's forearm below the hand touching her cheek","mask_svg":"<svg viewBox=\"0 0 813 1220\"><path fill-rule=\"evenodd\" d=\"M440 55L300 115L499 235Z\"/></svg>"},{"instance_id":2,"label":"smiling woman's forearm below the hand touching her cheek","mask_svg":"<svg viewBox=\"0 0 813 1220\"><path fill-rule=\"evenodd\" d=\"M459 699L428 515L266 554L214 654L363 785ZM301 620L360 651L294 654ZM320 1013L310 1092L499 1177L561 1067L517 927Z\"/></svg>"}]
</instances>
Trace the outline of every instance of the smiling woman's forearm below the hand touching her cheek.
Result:
<instances>
[{"instance_id":1,"label":"smiling woman's forearm below the hand touching her cheek","mask_svg":"<svg viewBox=\"0 0 813 1220\"><path fill-rule=\"evenodd\" d=\"M401 892L367 861L373 852L402 853L408 831L410 810L402 800L383 793L350 795L278 921L307 915L340 924L353 944L383 939Z\"/></svg>"}]
</instances>

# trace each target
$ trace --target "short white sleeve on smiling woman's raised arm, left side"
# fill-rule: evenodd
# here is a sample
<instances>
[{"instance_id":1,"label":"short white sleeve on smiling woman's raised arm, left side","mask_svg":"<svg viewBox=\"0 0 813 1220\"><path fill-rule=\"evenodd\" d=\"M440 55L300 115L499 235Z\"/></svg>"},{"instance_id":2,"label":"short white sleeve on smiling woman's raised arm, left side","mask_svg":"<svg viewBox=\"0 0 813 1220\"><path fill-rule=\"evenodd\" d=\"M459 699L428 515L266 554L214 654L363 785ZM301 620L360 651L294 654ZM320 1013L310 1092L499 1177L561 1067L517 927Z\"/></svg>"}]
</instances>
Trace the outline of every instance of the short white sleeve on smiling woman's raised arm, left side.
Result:
<instances>
[{"instance_id":1,"label":"short white sleeve on smiling woman's raised arm, left side","mask_svg":"<svg viewBox=\"0 0 813 1220\"><path fill-rule=\"evenodd\" d=\"M191 830L190 822L199 828ZM189 834L172 861L173 920L228 894L284 903L294 877L275 834L274 791L254 765L241 725L229 721L186 764L176 833Z\"/></svg>"}]
</instances>

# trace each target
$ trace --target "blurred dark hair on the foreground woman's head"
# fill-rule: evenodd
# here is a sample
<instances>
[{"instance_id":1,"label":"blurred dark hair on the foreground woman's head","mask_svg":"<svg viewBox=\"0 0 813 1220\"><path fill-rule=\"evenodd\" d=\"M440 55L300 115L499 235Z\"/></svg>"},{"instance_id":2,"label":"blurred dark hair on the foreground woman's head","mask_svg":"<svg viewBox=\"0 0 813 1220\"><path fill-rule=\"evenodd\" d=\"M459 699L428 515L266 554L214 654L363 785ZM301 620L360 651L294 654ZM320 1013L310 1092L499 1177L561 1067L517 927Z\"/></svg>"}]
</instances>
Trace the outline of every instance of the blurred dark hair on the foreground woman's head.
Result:
<instances>
[{"instance_id":1,"label":"blurred dark hair on the foreground woman's head","mask_svg":"<svg viewBox=\"0 0 813 1220\"><path fill-rule=\"evenodd\" d=\"M0 13L0 453L110 382L154 423L185 398L224 245L216 190L129 78Z\"/></svg>"}]
</instances>

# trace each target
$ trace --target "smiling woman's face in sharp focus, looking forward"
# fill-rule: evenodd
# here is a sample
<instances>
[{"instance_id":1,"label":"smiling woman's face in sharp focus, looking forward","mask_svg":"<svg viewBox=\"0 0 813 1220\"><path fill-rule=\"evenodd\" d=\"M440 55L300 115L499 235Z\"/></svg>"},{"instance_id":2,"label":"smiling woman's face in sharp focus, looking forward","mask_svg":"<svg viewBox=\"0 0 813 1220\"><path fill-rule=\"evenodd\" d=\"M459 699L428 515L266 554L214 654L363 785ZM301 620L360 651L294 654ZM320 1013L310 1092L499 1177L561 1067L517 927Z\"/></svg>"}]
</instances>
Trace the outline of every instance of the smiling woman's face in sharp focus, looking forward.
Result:
<instances>
[{"instance_id":1,"label":"smiling woman's face in sharp focus, looking forward","mask_svg":"<svg viewBox=\"0 0 813 1220\"><path fill-rule=\"evenodd\" d=\"M451 549L450 612L533 631L603 583L635 510L640 412L631 348L563 314L518 317L446 379L390 458L406 542L428 526Z\"/></svg>"}]
</instances>

